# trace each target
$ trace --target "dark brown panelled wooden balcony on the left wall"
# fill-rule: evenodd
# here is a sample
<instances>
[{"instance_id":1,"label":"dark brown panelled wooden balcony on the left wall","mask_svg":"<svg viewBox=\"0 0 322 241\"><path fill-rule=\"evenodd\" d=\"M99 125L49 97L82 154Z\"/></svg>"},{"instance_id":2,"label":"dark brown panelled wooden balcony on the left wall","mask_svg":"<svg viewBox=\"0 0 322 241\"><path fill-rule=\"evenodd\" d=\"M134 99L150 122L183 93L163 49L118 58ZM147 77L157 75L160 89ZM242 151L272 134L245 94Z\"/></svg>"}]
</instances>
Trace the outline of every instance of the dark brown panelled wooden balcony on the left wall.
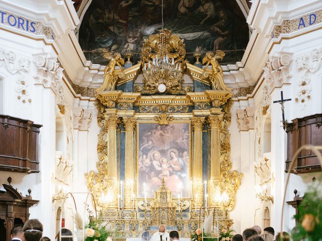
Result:
<instances>
[{"instance_id":1,"label":"dark brown panelled wooden balcony on the left wall","mask_svg":"<svg viewBox=\"0 0 322 241\"><path fill-rule=\"evenodd\" d=\"M39 172L38 136L41 125L0 115L0 170Z\"/></svg>"}]
</instances>

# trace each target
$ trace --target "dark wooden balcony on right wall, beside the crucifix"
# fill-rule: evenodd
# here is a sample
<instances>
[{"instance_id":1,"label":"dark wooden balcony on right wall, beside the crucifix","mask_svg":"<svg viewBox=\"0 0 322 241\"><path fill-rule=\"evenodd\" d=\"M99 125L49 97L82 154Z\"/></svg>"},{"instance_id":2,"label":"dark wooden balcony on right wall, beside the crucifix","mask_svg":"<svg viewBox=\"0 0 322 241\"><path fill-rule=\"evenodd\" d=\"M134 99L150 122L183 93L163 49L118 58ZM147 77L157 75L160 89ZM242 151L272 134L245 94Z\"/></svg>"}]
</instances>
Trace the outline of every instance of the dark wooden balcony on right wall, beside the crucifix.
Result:
<instances>
[{"instance_id":1,"label":"dark wooden balcony on right wall, beside the crucifix","mask_svg":"<svg viewBox=\"0 0 322 241\"><path fill-rule=\"evenodd\" d=\"M313 114L292 120L287 124L287 160L286 172L296 151L303 145L322 145L322 114ZM320 163L311 150L303 150L297 156L297 162L291 173L321 171Z\"/></svg>"}]
</instances>

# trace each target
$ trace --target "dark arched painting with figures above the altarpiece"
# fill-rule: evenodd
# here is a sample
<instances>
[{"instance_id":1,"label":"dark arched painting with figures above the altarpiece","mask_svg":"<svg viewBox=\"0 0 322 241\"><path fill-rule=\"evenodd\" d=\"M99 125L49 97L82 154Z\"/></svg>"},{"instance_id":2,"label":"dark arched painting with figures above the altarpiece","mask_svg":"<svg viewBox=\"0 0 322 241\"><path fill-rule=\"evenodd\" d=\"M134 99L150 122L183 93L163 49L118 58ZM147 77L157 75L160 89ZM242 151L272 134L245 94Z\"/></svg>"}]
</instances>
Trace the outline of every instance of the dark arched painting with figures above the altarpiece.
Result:
<instances>
[{"instance_id":1,"label":"dark arched painting with figures above the altarpiece","mask_svg":"<svg viewBox=\"0 0 322 241\"><path fill-rule=\"evenodd\" d=\"M164 0L164 28L184 39L186 58L192 52L229 50L222 64L243 57L249 41L245 16L234 0ZM79 44L88 60L106 65L102 49L132 49L140 60L143 40L162 28L162 0L93 0L79 29ZM202 55L203 56L203 55Z\"/></svg>"}]
</instances>

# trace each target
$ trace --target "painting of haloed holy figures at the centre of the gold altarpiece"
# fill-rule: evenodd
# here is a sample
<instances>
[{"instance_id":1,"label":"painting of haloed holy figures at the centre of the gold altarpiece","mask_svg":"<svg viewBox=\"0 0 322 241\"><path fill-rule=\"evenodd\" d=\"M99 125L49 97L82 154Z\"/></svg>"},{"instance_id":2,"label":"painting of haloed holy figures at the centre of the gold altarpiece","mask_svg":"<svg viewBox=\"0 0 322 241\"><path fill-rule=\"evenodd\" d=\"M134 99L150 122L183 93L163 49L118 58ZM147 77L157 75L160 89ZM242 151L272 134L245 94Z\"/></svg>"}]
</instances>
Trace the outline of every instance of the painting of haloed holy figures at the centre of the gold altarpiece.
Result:
<instances>
[{"instance_id":1,"label":"painting of haloed holy figures at the centre of the gold altarpiece","mask_svg":"<svg viewBox=\"0 0 322 241\"><path fill-rule=\"evenodd\" d=\"M190 122L138 122L137 138L137 197L153 198L165 179L173 198L190 198Z\"/></svg>"}]
</instances>

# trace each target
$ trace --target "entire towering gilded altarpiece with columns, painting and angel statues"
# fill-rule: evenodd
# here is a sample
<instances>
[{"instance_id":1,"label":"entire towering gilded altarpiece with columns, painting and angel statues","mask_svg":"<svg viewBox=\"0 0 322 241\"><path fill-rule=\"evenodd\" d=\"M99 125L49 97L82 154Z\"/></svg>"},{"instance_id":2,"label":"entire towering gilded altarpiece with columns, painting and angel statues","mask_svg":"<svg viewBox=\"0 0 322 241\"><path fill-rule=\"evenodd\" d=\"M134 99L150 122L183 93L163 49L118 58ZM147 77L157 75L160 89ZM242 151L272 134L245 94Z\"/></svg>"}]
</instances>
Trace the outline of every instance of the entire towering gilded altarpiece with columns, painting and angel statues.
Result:
<instances>
[{"instance_id":1,"label":"entire towering gilded altarpiece with columns, painting and angel statues","mask_svg":"<svg viewBox=\"0 0 322 241\"><path fill-rule=\"evenodd\" d=\"M182 237L189 237L210 211L221 225L230 226L229 211L242 176L231 171L232 93L217 62L224 53L208 53L203 58L205 68L186 62L182 55L171 55L194 86L168 91L169 84L165 93L147 94L145 86L135 85L137 76L155 63L155 56L162 59L167 51L173 53L171 46L180 41L169 31L158 37L162 41L154 41L151 49L169 44L167 48L142 54L145 57L136 65L127 62L126 68L116 68L123 61L112 57L114 64L107 66L104 83L97 89L98 171L85 175L102 218L110 220L118 230L115 235L121 237L155 230L156 213L162 210L171 210L171 220L163 222L180 230ZM158 199L163 195L167 202Z\"/></svg>"}]
</instances>

